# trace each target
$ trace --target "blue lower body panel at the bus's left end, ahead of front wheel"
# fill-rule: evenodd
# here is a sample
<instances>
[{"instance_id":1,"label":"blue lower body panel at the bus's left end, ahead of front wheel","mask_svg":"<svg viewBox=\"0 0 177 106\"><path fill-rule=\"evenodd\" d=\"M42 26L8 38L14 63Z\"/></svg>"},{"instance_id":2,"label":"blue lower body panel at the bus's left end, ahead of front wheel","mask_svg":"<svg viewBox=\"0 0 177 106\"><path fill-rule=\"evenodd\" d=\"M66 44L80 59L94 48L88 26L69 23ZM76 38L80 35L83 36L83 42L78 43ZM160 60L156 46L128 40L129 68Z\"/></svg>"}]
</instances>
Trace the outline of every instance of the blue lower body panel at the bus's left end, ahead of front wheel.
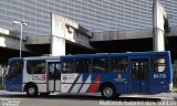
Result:
<instances>
[{"instance_id":1,"label":"blue lower body panel at the bus's left end, ahead of front wheel","mask_svg":"<svg viewBox=\"0 0 177 106\"><path fill-rule=\"evenodd\" d=\"M6 91L22 92L22 74L6 78Z\"/></svg>"}]
</instances>

